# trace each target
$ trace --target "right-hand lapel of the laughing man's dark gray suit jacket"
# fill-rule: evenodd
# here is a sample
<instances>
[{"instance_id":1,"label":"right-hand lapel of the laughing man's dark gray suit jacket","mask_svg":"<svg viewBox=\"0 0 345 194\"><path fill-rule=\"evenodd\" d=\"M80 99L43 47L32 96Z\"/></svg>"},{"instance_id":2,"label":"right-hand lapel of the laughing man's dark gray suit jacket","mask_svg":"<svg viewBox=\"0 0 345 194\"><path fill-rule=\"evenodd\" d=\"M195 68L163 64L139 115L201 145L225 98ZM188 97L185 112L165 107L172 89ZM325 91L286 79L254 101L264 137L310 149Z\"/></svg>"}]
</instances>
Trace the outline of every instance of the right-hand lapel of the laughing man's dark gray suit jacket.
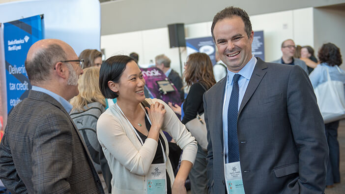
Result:
<instances>
[{"instance_id":1,"label":"right-hand lapel of the laughing man's dark gray suit jacket","mask_svg":"<svg viewBox=\"0 0 345 194\"><path fill-rule=\"evenodd\" d=\"M239 111L238 111L238 115L241 114L244 106L247 104L247 102L249 101L249 99L253 96L254 92L257 90L259 83L261 82L263 76L266 74L267 72L267 65L265 62L263 62L260 58L258 58L258 62L254 67L254 71L253 74L249 80L248 86L247 86L247 90L244 93Z\"/></svg>"}]
</instances>

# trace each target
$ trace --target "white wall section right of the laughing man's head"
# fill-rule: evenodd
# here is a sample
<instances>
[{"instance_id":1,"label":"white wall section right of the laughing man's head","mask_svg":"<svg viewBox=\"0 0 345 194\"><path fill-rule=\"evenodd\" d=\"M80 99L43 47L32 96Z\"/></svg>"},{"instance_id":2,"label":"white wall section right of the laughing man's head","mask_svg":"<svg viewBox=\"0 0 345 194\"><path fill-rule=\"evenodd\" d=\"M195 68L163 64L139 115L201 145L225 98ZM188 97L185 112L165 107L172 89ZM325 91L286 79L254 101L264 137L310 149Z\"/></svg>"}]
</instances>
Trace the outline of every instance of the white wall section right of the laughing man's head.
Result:
<instances>
[{"instance_id":1,"label":"white wall section right of the laughing man's head","mask_svg":"<svg viewBox=\"0 0 345 194\"><path fill-rule=\"evenodd\" d=\"M251 16L253 30L263 30L265 61L282 57L281 44L293 39L297 45L314 46L313 8L295 9Z\"/></svg>"}]
</instances>

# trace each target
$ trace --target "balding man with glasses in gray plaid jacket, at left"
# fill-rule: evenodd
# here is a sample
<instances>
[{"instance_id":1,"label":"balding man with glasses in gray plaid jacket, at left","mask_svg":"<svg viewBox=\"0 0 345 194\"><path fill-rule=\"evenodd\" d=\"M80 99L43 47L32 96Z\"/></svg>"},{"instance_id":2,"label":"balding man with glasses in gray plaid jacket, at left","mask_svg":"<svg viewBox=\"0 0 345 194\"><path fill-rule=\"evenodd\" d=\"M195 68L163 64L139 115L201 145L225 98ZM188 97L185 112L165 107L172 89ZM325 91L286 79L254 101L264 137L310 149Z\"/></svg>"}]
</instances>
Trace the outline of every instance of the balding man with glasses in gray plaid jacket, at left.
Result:
<instances>
[{"instance_id":1,"label":"balding man with glasses in gray plaid jacket, at left","mask_svg":"<svg viewBox=\"0 0 345 194\"><path fill-rule=\"evenodd\" d=\"M14 107L0 144L0 179L11 193L104 193L68 112L83 63L57 39L34 43L25 67L32 90Z\"/></svg>"}]
</instances>

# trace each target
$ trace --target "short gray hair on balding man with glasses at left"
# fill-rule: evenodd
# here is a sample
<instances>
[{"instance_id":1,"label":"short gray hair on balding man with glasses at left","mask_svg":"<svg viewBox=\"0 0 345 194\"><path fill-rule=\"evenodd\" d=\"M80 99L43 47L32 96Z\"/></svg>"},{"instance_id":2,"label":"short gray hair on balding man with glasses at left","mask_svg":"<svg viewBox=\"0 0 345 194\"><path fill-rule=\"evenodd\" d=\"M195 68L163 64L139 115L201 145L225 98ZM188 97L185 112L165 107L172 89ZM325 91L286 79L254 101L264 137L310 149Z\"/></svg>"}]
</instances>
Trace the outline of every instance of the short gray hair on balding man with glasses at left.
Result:
<instances>
[{"instance_id":1,"label":"short gray hair on balding man with glasses at left","mask_svg":"<svg viewBox=\"0 0 345 194\"><path fill-rule=\"evenodd\" d=\"M67 59L67 55L58 44L51 44L47 48L38 50L32 59L25 61L31 84L49 80L49 74L54 65Z\"/></svg>"}]
</instances>

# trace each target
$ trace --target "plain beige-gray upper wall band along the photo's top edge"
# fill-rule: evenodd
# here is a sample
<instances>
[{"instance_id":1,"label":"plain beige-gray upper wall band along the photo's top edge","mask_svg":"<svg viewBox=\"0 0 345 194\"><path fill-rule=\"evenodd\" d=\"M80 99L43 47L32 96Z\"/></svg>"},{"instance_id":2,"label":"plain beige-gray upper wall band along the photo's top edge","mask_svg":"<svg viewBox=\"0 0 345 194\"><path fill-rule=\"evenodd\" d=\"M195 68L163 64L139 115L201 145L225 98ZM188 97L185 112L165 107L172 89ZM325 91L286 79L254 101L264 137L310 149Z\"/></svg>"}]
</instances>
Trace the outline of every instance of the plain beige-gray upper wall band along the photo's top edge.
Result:
<instances>
[{"instance_id":1,"label":"plain beige-gray upper wall band along the photo's top edge","mask_svg":"<svg viewBox=\"0 0 345 194\"><path fill-rule=\"evenodd\" d=\"M340 3L345 0L113 0L101 3L102 35L208 22L227 6L259 15Z\"/></svg>"}]
</instances>

